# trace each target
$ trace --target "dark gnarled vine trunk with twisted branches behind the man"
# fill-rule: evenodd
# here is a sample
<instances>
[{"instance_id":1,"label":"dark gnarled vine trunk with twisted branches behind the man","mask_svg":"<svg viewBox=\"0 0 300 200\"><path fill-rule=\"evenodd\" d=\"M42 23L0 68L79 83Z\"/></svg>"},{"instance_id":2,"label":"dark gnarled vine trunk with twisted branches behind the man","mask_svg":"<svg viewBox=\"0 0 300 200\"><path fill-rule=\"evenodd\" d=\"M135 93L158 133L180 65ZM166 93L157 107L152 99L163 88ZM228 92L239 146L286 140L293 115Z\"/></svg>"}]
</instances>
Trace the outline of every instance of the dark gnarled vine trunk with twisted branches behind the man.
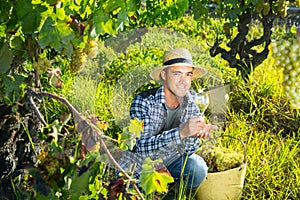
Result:
<instances>
[{"instance_id":1,"label":"dark gnarled vine trunk with twisted branches behind the man","mask_svg":"<svg viewBox=\"0 0 300 200\"><path fill-rule=\"evenodd\" d=\"M275 15L269 12L264 17L256 16L250 9L245 10L238 17L238 34L235 38L227 43L230 48L226 50L220 46L219 38L215 40L214 45L210 48L210 55L215 57L221 54L221 57L226 60L231 68L237 69L237 75L241 73L245 81L252 70L260 65L269 54L268 46L271 43L272 24ZM263 26L263 35L253 40L248 40L249 27L253 19L257 18ZM254 47L263 45L263 50L258 52Z\"/></svg>"}]
</instances>

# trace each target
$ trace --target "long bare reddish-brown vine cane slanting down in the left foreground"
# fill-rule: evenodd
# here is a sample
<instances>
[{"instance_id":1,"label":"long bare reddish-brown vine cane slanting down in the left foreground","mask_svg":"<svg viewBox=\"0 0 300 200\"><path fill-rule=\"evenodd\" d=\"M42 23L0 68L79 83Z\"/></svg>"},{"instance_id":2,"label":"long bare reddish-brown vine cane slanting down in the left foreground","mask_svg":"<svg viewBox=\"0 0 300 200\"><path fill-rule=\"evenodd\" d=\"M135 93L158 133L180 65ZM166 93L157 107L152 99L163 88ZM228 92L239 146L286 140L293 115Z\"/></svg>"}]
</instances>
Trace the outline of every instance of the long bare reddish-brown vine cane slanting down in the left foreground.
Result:
<instances>
[{"instance_id":1,"label":"long bare reddish-brown vine cane slanting down in the left foreground","mask_svg":"<svg viewBox=\"0 0 300 200\"><path fill-rule=\"evenodd\" d=\"M61 103L65 104L73 113L73 116L75 119L77 119L79 122L84 122L84 124L88 125L88 128L91 128L94 132L94 134L96 134L96 139L98 142L100 142L100 145L103 147L104 152L107 154L109 160L112 162L112 164L118 169L120 170L120 172L128 179L129 182L131 182L133 188L136 190L137 194L139 195L139 197L144 200L144 197L142 195L142 193L140 192L139 188L137 187L136 180L132 179L127 173L126 171L119 165L119 163L115 160L115 158L112 156L111 152L108 150L107 145L105 144L103 138L105 137L103 134L100 133L99 128L96 127L92 122L90 122L89 120L85 119L80 112L78 112L76 110L76 108L66 99L63 97L60 97L58 95L55 94L51 94L51 93L47 93L47 92L41 92L41 93L36 93L35 91L33 91L32 89L28 89L27 90L27 94L29 97L29 102L33 107L33 110L35 111L35 113L37 114L39 120L41 120L41 122L46 125L46 122L42 116L42 114L40 113L40 111L38 110L38 108L36 107L32 97L36 97L38 99L42 99L43 97L48 97L48 98L53 98L56 99L58 101L60 101ZM105 137L107 138L107 137Z\"/></svg>"}]
</instances>

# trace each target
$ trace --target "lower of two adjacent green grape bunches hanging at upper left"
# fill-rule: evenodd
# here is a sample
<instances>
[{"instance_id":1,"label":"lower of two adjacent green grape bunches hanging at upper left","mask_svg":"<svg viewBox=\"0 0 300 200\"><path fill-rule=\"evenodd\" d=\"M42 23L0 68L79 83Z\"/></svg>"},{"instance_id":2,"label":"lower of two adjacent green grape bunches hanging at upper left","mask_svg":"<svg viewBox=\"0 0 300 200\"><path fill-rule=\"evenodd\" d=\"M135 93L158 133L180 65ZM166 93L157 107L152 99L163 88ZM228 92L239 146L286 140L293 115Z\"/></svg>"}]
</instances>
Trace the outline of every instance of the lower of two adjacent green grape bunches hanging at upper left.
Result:
<instances>
[{"instance_id":1,"label":"lower of two adjacent green grape bunches hanging at upper left","mask_svg":"<svg viewBox=\"0 0 300 200\"><path fill-rule=\"evenodd\" d=\"M79 72L86 63L87 55L84 49L75 48L71 54L70 71Z\"/></svg>"}]
</instances>

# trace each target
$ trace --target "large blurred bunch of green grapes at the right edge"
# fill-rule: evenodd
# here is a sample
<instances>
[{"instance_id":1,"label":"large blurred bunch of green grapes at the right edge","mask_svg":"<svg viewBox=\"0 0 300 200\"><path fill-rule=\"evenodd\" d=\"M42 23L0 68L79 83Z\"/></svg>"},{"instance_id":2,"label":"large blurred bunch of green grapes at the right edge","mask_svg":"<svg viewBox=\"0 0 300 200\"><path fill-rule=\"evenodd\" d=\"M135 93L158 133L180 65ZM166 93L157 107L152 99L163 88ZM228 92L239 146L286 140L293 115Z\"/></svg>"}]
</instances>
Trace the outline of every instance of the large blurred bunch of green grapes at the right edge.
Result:
<instances>
[{"instance_id":1,"label":"large blurred bunch of green grapes at the right edge","mask_svg":"<svg viewBox=\"0 0 300 200\"><path fill-rule=\"evenodd\" d=\"M275 64L282 67L283 87L292 109L300 109L300 44L297 41L272 43Z\"/></svg>"}]
</instances>

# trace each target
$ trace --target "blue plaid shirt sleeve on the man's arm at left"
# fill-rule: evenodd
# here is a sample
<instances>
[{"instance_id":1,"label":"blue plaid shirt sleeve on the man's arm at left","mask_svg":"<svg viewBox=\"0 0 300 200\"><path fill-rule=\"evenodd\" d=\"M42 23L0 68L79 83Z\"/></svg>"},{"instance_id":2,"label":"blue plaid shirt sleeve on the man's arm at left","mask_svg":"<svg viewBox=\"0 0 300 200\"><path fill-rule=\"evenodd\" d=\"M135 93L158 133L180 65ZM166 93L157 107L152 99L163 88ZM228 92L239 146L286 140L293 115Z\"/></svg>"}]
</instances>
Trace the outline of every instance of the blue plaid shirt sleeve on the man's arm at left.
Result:
<instances>
[{"instance_id":1,"label":"blue plaid shirt sleeve on the man's arm at left","mask_svg":"<svg viewBox=\"0 0 300 200\"><path fill-rule=\"evenodd\" d=\"M132 101L130 117L138 118L144 122L144 131L141 133L141 137L137 138L136 146L133 151L144 153L146 156L152 157L159 148L166 146L170 142L181 144L182 141L180 139L179 128L164 131L160 134L151 133L151 126L153 125L152 119L155 117L162 118L162 116L155 116L155 112L154 116L150 116L150 113L153 113L150 112L150 108L150 101L138 95ZM160 120L163 120L163 118Z\"/></svg>"}]
</instances>

